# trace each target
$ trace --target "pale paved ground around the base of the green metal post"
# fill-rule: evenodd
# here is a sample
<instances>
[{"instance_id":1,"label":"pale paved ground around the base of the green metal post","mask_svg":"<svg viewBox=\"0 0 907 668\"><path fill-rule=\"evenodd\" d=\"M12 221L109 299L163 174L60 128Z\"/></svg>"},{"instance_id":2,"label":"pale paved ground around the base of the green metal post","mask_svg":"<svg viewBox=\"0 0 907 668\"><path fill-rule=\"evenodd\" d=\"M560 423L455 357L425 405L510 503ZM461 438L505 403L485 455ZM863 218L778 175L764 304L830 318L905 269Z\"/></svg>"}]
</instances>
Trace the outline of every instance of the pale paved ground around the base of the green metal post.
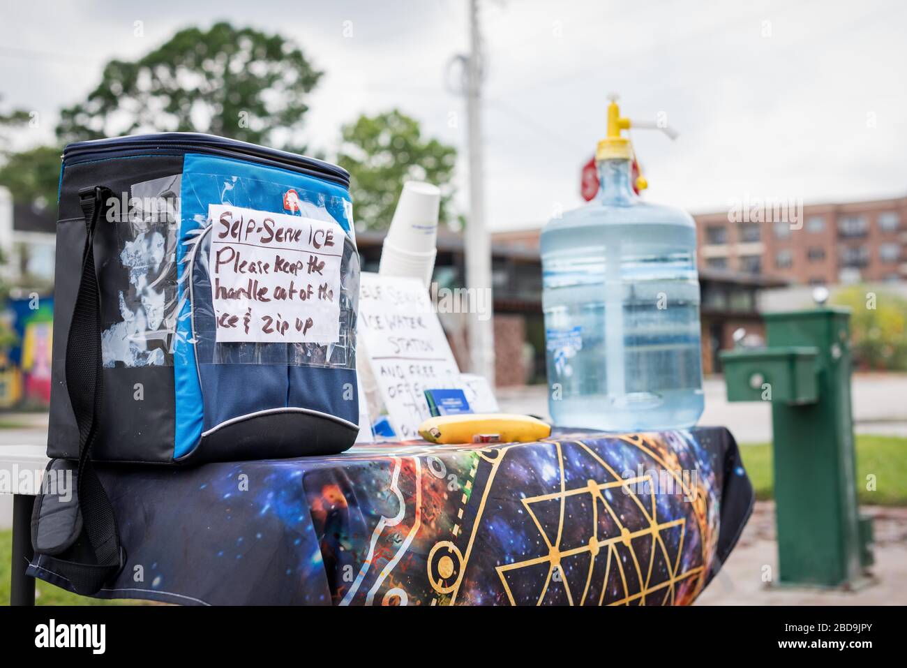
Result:
<instances>
[{"instance_id":1,"label":"pale paved ground around the base of the green metal post","mask_svg":"<svg viewBox=\"0 0 907 668\"><path fill-rule=\"evenodd\" d=\"M760 501L727 563L699 596L697 605L907 604L907 508L861 506L860 510L875 518L870 585L847 592L766 584L766 573L777 575L775 504Z\"/></svg>"}]
</instances>

